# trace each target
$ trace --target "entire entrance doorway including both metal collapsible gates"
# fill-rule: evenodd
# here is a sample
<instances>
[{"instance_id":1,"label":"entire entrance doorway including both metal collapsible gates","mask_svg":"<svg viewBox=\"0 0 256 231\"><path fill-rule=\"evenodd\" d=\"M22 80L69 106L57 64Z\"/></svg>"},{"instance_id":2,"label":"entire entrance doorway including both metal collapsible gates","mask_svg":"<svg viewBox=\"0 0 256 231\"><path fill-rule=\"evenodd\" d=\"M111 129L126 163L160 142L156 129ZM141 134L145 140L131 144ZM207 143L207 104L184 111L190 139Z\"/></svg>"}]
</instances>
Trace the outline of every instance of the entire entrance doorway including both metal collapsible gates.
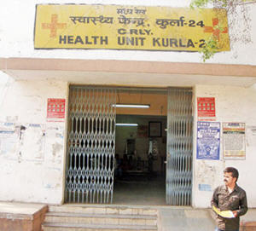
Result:
<instances>
[{"instance_id":1,"label":"entire entrance doorway including both metal collapsible gates","mask_svg":"<svg viewBox=\"0 0 256 231\"><path fill-rule=\"evenodd\" d=\"M65 201L190 205L192 96L187 92L192 91L71 86Z\"/></svg>"}]
</instances>

